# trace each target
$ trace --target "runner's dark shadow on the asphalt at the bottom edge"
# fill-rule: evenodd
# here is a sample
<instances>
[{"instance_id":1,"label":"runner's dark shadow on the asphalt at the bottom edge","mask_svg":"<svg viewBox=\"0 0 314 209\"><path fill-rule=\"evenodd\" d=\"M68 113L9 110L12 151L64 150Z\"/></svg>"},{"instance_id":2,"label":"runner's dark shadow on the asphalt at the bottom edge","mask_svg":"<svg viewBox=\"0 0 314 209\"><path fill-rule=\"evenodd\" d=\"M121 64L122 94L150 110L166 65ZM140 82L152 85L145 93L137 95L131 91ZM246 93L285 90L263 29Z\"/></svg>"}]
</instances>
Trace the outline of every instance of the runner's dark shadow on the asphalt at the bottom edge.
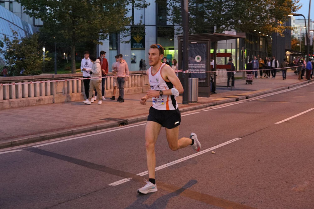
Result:
<instances>
[{"instance_id":1,"label":"runner's dark shadow on the asphalt at the bottom edge","mask_svg":"<svg viewBox=\"0 0 314 209\"><path fill-rule=\"evenodd\" d=\"M197 180L190 180L189 182L187 182L186 185L184 185L182 188L171 192L170 194L164 195L159 197L156 201L154 201L153 204L151 205L146 205L144 204L144 202L154 193L150 193L147 195L138 195L138 199L136 201L133 202L133 204L131 204L130 206L127 206L125 209L133 209L133 208L137 208L137 209L161 209L161 208L166 208L168 201L175 196L180 195L183 191L185 191L186 189L192 187L194 184L197 183ZM158 191L157 191L158 192Z\"/></svg>"}]
</instances>

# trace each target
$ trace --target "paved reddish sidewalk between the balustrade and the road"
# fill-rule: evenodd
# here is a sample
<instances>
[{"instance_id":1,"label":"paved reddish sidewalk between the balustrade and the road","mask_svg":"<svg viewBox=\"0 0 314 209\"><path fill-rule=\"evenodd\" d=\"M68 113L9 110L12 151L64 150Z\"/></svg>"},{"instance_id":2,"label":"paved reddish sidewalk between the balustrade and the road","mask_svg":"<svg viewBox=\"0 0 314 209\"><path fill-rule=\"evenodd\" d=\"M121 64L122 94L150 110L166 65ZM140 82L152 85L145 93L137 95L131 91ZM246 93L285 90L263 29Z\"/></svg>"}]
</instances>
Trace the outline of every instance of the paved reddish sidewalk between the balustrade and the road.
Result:
<instances>
[{"instance_id":1,"label":"paved reddish sidewalk between the balustrade and the road","mask_svg":"<svg viewBox=\"0 0 314 209\"><path fill-rule=\"evenodd\" d=\"M242 77L242 73L237 73L236 76ZM257 78L252 85L246 85L245 80L237 79L232 91L222 87L226 86L225 83L217 84L217 94L208 98L198 97L198 103L183 105L182 96L177 97L177 102L180 111L186 112L308 82L298 80L294 71L287 71L287 79L282 80L281 72L278 72L276 79ZM125 95L123 103L112 101L109 99L111 95L106 95L107 100L101 105L97 104L98 101L92 105L73 101L1 110L0 148L146 121L151 102L141 105L139 99L144 95L145 93Z\"/></svg>"}]
</instances>

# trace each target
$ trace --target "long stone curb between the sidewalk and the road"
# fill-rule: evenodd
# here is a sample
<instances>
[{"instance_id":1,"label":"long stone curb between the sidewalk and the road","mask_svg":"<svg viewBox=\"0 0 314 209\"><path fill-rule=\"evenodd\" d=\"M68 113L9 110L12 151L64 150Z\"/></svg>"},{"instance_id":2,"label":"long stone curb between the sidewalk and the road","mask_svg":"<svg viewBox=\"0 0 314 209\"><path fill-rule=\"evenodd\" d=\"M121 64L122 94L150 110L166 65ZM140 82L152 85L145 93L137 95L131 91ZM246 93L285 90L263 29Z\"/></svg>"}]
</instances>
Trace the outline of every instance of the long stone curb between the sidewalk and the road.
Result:
<instances>
[{"instance_id":1,"label":"long stone curb between the sidewalk and the road","mask_svg":"<svg viewBox=\"0 0 314 209\"><path fill-rule=\"evenodd\" d=\"M264 94L273 93L276 91L282 91L285 89L290 89L290 88L293 88L296 86L302 86L302 85L307 84L309 82L312 82L312 81L296 83L296 84L292 84L289 86L280 87L278 89L271 89L271 90L262 91L262 92L258 92L258 93L248 94L246 96L237 96L237 97L232 97L232 98L228 98L228 99L221 100L221 101L199 104L199 105L195 105L195 106L191 106L191 107L183 107L183 108L180 108L180 112L194 111L194 110L203 109L206 107L216 106L216 105L220 105L220 104L225 104L225 103L229 103L229 102L237 102L240 100L245 100L245 99L249 99L252 97L257 97L257 96L261 96ZM147 116L148 115L143 114L143 116L131 117L131 118L127 118L124 120L115 121L115 122L105 122L105 123L99 123L96 125L94 124L94 125L82 126L82 127L78 127L78 128L66 128L66 129L59 130L59 131L53 131L53 132L40 133L40 134L34 134L34 135L19 137L19 138L15 138L14 140L8 139L8 140L4 140L4 141L0 142L0 149L12 147L12 146L18 146L18 145L22 145L22 144L29 144L29 143L39 142L39 141L45 141L45 140L53 139L53 138L71 136L71 135L75 135L75 134L79 134L79 133L87 133L90 131L97 131L97 130L102 130L102 129L106 129L106 128L114 128L114 127L119 127L119 126L123 126L123 125L129 125L129 124L133 124L133 123L143 122L143 121L147 120Z\"/></svg>"}]
</instances>

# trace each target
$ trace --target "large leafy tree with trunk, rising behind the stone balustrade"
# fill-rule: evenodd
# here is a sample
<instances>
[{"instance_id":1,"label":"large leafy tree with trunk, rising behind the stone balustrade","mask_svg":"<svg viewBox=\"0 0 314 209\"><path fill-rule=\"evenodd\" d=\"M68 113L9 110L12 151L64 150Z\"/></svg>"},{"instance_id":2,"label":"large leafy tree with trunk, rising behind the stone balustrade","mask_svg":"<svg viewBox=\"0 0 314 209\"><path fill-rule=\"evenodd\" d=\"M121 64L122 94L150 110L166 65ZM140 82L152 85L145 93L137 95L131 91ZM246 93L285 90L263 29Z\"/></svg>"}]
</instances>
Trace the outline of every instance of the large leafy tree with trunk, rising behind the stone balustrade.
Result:
<instances>
[{"instance_id":1,"label":"large leafy tree with trunk, rising behind the stone balustrade","mask_svg":"<svg viewBox=\"0 0 314 209\"><path fill-rule=\"evenodd\" d=\"M127 6L146 7L145 0L17 0L26 13L41 18L56 41L71 47L72 73L75 73L75 47L80 42L106 39L109 33L126 32L132 18Z\"/></svg>"}]
</instances>

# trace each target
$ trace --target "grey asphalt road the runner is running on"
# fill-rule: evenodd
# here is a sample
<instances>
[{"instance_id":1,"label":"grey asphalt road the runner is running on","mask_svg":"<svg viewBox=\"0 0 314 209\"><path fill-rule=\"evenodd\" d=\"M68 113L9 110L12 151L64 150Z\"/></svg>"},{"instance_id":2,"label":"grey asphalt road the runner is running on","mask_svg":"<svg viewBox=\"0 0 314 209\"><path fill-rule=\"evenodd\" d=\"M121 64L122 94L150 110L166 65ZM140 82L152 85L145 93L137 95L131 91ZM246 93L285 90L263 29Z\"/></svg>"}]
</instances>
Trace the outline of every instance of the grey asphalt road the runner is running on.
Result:
<instances>
[{"instance_id":1,"label":"grey asphalt road the runner is running on","mask_svg":"<svg viewBox=\"0 0 314 209\"><path fill-rule=\"evenodd\" d=\"M0 149L0 208L314 208L310 86L183 113L202 149L171 151L162 130L148 195L145 123Z\"/></svg>"}]
</instances>

